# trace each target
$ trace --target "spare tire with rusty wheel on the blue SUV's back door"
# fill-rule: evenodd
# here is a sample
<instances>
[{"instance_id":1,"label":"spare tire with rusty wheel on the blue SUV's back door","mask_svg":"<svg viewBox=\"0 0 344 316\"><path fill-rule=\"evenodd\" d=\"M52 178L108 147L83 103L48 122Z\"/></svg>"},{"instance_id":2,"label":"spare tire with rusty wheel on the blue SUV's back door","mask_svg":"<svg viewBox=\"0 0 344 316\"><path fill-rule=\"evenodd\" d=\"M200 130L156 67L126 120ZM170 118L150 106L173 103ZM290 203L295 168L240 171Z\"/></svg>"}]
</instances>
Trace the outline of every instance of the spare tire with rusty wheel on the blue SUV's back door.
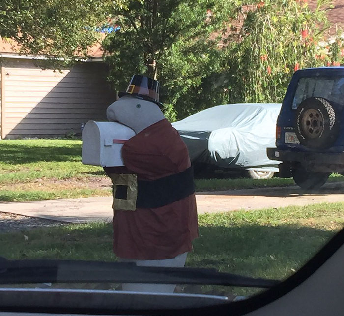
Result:
<instances>
[{"instance_id":1,"label":"spare tire with rusty wheel on the blue SUV's back door","mask_svg":"<svg viewBox=\"0 0 344 316\"><path fill-rule=\"evenodd\" d=\"M295 133L300 143L308 148L331 147L338 137L339 126L334 107L324 98L308 98L297 108Z\"/></svg>"}]
</instances>

